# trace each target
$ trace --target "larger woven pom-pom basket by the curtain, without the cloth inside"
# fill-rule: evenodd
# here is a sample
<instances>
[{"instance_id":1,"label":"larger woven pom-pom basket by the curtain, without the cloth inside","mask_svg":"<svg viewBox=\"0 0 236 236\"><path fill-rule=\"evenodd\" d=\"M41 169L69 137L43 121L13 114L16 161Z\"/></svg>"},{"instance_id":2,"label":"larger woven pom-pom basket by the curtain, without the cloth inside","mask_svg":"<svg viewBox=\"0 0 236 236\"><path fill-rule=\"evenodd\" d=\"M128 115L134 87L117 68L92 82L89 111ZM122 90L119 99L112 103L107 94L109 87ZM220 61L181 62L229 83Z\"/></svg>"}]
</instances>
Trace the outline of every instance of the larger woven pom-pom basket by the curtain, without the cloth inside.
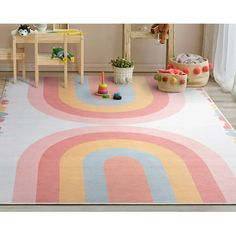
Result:
<instances>
[{"instance_id":1,"label":"larger woven pom-pom basket by the curtain, without the cloth inside","mask_svg":"<svg viewBox=\"0 0 236 236\"><path fill-rule=\"evenodd\" d=\"M208 83L210 74L208 60L198 64L184 64L176 62L174 58L170 58L169 66L188 74L188 87L203 87Z\"/></svg>"}]
</instances>

